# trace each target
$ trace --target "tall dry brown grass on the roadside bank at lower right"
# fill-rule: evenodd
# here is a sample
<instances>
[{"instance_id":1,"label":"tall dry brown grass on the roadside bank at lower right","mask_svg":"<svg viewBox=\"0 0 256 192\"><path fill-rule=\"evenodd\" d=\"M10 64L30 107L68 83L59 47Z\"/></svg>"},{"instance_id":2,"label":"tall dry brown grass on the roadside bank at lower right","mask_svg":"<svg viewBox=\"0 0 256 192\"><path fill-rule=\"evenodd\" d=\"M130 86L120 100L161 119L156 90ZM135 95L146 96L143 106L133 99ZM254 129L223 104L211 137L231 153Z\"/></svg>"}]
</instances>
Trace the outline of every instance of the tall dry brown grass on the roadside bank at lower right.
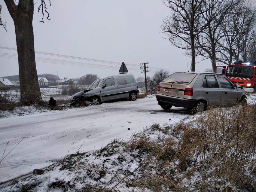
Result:
<instances>
[{"instance_id":1,"label":"tall dry brown grass on the roadside bank at lower right","mask_svg":"<svg viewBox=\"0 0 256 192\"><path fill-rule=\"evenodd\" d=\"M246 105L212 108L192 122L181 122L175 128L181 139L166 142L158 153L165 165L155 163L155 169L165 171L156 180L145 169L140 182L158 181L172 191L256 191L255 117L256 105Z\"/></svg>"}]
</instances>

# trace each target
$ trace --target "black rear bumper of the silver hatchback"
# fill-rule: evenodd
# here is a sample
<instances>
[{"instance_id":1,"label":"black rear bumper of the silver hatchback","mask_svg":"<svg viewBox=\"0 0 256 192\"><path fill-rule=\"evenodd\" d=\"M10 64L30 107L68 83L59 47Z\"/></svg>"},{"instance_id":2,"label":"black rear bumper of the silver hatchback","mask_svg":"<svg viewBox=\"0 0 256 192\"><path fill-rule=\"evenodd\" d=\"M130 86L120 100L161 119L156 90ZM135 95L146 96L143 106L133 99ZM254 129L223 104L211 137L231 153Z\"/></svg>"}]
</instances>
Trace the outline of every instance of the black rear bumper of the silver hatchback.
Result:
<instances>
[{"instance_id":1,"label":"black rear bumper of the silver hatchback","mask_svg":"<svg viewBox=\"0 0 256 192\"><path fill-rule=\"evenodd\" d=\"M197 100L194 100L194 99L184 99L184 98L166 96L159 93L156 94L156 98L158 101L158 105L161 105L161 103L163 103L163 104L173 105L175 107L194 108L194 106L197 103Z\"/></svg>"}]
</instances>

